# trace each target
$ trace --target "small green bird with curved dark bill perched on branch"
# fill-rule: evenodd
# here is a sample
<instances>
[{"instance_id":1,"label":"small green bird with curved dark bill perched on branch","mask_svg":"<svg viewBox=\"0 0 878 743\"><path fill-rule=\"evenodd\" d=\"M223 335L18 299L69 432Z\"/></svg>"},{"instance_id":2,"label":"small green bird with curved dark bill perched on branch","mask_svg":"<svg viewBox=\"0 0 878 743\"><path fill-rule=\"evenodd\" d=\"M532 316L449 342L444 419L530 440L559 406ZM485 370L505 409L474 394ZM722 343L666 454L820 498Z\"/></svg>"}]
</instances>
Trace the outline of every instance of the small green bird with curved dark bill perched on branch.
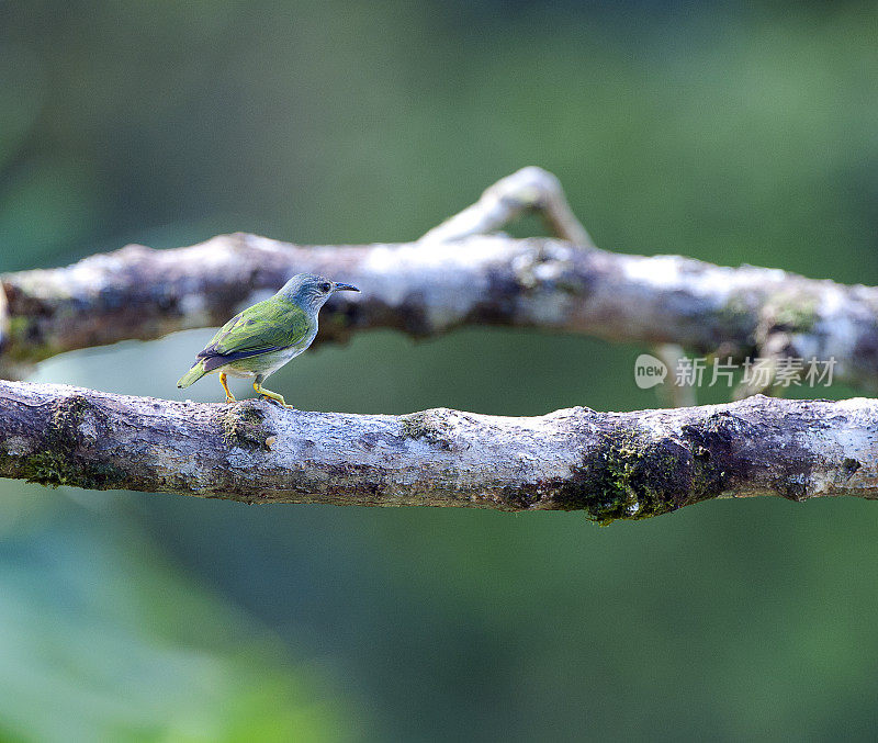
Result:
<instances>
[{"instance_id":1,"label":"small green bird with curved dark bill perched on branch","mask_svg":"<svg viewBox=\"0 0 878 743\"><path fill-rule=\"evenodd\" d=\"M218 373L226 402L234 403L226 376L255 378L254 390L260 395L292 408L262 382L311 346L326 300L335 292L359 291L313 273L296 273L274 296L247 307L219 328L177 386L188 387L205 374Z\"/></svg>"}]
</instances>

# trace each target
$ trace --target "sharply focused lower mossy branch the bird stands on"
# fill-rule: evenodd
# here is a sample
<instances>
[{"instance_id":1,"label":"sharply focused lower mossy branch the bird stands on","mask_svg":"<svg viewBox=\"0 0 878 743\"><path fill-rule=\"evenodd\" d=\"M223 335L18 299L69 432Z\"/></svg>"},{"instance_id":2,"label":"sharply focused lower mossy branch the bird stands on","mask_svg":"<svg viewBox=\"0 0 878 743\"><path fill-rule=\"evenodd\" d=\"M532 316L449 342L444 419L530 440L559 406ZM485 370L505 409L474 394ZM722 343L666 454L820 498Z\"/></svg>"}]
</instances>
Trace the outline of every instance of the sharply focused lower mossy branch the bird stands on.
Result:
<instances>
[{"instance_id":1,"label":"sharply focused lower mossy branch the bird stands on","mask_svg":"<svg viewBox=\"0 0 878 743\"><path fill-rule=\"evenodd\" d=\"M245 503L583 510L607 522L716 497L878 498L878 401L533 418L179 403L0 382L0 476Z\"/></svg>"}]
</instances>

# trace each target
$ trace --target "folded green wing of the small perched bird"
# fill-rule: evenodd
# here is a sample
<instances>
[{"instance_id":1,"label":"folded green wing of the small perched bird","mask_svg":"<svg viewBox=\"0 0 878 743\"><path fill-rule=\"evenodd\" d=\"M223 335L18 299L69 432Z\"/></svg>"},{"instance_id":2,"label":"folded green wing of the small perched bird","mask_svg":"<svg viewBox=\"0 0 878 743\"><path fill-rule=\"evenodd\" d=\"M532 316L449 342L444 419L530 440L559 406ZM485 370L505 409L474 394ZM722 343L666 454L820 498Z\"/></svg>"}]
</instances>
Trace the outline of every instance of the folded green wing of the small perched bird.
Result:
<instances>
[{"instance_id":1,"label":"folded green wing of the small perched bird","mask_svg":"<svg viewBox=\"0 0 878 743\"><path fill-rule=\"evenodd\" d=\"M301 307L272 297L235 315L198 358L205 360L205 371L210 371L209 365L215 369L236 359L295 346L306 338L312 326Z\"/></svg>"}]
</instances>

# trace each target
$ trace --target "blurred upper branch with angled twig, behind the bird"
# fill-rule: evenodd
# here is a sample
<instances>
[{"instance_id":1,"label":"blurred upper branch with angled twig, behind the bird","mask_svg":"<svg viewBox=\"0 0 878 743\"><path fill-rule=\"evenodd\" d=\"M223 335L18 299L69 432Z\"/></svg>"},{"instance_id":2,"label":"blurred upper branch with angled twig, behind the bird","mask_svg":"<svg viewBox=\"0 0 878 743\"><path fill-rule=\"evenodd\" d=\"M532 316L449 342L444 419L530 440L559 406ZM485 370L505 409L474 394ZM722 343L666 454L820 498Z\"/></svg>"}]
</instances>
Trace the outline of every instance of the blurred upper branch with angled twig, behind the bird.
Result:
<instances>
[{"instance_id":1,"label":"blurred upper branch with angled twig, behind the bird","mask_svg":"<svg viewBox=\"0 0 878 743\"><path fill-rule=\"evenodd\" d=\"M483 234L526 210L565 239ZM558 181L538 168L499 181L414 243L306 247L235 234L173 250L128 246L67 268L5 274L0 362L11 374L16 364L61 351L219 325L297 271L362 289L330 301L318 341L367 328L424 337L505 325L674 344L739 360L834 358L837 380L878 389L878 289L598 250Z\"/></svg>"}]
</instances>

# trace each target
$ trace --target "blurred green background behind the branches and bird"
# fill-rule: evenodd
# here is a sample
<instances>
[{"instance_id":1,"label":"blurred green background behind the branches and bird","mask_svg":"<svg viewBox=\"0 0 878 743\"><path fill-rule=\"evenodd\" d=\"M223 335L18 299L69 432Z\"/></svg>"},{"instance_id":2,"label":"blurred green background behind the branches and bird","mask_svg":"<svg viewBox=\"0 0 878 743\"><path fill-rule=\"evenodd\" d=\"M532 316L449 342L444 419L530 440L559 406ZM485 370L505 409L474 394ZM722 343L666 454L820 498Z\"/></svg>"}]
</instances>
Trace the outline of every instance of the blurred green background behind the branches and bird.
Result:
<instances>
[{"instance_id":1,"label":"blurred green background behind the branches and bird","mask_svg":"<svg viewBox=\"0 0 878 743\"><path fill-rule=\"evenodd\" d=\"M0 2L0 270L410 239L532 164L601 247L878 283L877 40L875 3ZM180 398L211 333L33 379ZM643 350L371 333L273 381L634 409ZM0 740L874 740L876 533L855 499L598 528L4 481Z\"/></svg>"}]
</instances>

